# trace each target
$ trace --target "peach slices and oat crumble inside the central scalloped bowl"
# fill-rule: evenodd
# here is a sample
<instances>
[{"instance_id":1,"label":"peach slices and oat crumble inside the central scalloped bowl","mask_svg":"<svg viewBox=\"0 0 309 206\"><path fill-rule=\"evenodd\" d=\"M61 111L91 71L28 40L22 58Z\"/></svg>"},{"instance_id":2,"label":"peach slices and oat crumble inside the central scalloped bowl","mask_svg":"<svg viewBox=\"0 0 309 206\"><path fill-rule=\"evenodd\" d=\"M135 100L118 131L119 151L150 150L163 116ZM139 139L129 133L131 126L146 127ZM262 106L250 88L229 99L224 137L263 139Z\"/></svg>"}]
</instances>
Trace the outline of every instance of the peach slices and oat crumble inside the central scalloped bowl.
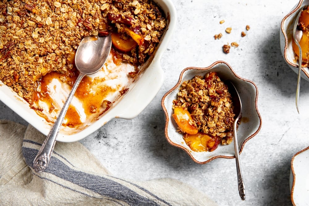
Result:
<instances>
[{"instance_id":1,"label":"peach slices and oat crumble inside the central scalloped bowl","mask_svg":"<svg viewBox=\"0 0 309 206\"><path fill-rule=\"evenodd\" d=\"M214 151L233 140L233 103L216 72L184 81L172 115L186 144L196 152Z\"/></svg>"}]
</instances>

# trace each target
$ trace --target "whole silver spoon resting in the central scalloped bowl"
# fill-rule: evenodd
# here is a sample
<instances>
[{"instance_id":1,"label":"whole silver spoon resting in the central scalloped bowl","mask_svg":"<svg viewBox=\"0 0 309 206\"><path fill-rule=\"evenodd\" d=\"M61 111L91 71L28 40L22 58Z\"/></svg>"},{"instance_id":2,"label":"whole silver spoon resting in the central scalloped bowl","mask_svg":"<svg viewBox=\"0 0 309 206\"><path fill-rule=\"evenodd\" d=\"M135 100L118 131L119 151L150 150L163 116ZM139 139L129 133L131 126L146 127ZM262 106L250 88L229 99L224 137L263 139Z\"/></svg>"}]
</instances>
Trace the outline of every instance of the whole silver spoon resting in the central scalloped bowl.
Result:
<instances>
[{"instance_id":1,"label":"whole silver spoon resting in the central scalloped bowl","mask_svg":"<svg viewBox=\"0 0 309 206\"><path fill-rule=\"evenodd\" d=\"M243 175L241 174L241 168L240 168L240 160L239 160L239 149L238 149L238 142L237 142L237 121L239 120L241 116L242 106L239 94L232 82L228 82L228 88L232 96L234 109L233 112L235 116L237 115L236 119L234 120L233 124L233 140L234 140L234 149L235 149L235 160L236 160L236 172L237 172L237 179L238 179L238 191L239 196L242 200L245 200L245 185L243 183Z\"/></svg>"}]
</instances>

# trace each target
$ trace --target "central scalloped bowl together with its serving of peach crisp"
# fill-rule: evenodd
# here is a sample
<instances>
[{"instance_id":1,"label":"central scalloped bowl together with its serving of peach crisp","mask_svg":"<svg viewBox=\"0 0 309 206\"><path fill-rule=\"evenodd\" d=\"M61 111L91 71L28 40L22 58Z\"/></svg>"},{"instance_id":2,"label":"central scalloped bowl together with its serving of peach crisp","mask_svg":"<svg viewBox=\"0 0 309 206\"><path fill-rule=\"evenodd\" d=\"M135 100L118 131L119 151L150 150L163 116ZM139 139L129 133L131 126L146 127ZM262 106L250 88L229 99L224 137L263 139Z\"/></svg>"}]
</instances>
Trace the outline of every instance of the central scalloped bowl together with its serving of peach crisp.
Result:
<instances>
[{"instance_id":1,"label":"central scalloped bowl together with its serving of peach crisp","mask_svg":"<svg viewBox=\"0 0 309 206\"><path fill-rule=\"evenodd\" d=\"M256 85L239 77L224 61L216 61L206 68L184 69L177 84L162 98L165 113L165 137L183 149L194 162L204 164L215 158L234 158L232 82L242 103L241 118L237 122L239 153L245 143L261 128L257 109Z\"/></svg>"}]
</instances>

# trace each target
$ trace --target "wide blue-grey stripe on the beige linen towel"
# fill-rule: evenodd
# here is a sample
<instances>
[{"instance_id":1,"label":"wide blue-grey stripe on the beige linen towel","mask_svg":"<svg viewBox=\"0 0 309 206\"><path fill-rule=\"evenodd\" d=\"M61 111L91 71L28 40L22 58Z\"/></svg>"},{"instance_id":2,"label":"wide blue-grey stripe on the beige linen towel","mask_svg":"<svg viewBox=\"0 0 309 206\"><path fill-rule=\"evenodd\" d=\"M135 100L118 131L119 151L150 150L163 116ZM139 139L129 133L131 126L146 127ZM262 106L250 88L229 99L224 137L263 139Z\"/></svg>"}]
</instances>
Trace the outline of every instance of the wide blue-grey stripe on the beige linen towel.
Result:
<instances>
[{"instance_id":1,"label":"wide blue-grey stripe on the beige linen towel","mask_svg":"<svg viewBox=\"0 0 309 206\"><path fill-rule=\"evenodd\" d=\"M38 150L26 147L22 147L22 150L27 165L33 167L33 160ZM55 157L51 157L49 166L46 168L45 172L94 191L100 195L125 201L130 205L158 205L156 202L139 195L130 188L111 179L73 170ZM143 188L143 190L146 189Z\"/></svg>"}]
</instances>

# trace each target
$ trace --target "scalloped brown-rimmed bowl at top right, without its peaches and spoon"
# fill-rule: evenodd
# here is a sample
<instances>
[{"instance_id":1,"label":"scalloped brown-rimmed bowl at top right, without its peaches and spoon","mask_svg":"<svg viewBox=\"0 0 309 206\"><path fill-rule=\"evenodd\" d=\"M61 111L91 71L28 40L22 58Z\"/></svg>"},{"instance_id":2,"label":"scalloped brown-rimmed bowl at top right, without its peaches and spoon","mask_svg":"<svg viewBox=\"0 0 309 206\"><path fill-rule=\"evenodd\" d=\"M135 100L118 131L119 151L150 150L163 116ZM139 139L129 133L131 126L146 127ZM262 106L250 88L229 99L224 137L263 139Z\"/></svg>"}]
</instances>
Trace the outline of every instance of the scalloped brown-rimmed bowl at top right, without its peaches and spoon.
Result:
<instances>
[{"instance_id":1,"label":"scalloped brown-rimmed bowl at top right, without its peaches and spoon","mask_svg":"<svg viewBox=\"0 0 309 206\"><path fill-rule=\"evenodd\" d=\"M294 6L292 11L287 14L281 21L280 29L280 48L282 56L290 68L298 74L298 62L295 61L295 53L292 48L293 39L293 25L295 18L297 17L299 8L305 5L309 5L309 0L300 0L297 5ZM309 68L302 67L301 77L309 81Z\"/></svg>"}]
</instances>

